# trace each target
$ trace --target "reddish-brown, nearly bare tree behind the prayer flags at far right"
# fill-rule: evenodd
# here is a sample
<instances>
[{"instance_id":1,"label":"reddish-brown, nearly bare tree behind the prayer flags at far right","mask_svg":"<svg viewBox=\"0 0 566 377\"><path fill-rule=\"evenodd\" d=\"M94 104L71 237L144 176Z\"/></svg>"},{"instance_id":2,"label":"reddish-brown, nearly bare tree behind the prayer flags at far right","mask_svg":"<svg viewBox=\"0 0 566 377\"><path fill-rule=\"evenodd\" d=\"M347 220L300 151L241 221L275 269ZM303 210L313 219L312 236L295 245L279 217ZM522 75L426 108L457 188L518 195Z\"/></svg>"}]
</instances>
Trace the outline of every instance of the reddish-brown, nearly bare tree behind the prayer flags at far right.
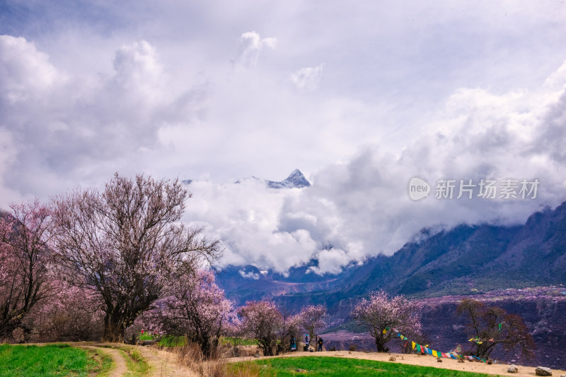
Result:
<instances>
[{"instance_id":1,"label":"reddish-brown, nearly bare tree behind the prayer flags at far right","mask_svg":"<svg viewBox=\"0 0 566 377\"><path fill-rule=\"evenodd\" d=\"M470 319L468 331L475 356L487 359L497 348L504 352L519 349L526 359L532 356L535 343L521 317L474 299L462 300L456 310Z\"/></svg>"}]
</instances>

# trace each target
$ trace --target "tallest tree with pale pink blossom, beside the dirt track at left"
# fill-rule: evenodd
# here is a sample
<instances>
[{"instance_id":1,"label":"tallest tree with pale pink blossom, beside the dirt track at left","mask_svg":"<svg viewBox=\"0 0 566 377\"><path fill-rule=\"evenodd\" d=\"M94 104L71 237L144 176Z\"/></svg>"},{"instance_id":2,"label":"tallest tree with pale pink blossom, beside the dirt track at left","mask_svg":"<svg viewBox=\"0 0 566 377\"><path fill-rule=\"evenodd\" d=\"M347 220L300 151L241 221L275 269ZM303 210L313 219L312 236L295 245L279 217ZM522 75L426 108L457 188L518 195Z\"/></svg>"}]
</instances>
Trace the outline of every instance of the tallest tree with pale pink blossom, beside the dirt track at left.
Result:
<instances>
[{"instance_id":1,"label":"tallest tree with pale pink blossom, beside the dirt track at left","mask_svg":"<svg viewBox=\"0 0 566 377\"><path fill-rule=\"evenodd\" d=\"M219 241L179 222L190 197L178 179L116 173L102 192L76 189L55 198L59 261L72 285L100 296L105 340L122 340L137 316L166 294L173 272L219 258Z\"/></svg>"}]
</instances>

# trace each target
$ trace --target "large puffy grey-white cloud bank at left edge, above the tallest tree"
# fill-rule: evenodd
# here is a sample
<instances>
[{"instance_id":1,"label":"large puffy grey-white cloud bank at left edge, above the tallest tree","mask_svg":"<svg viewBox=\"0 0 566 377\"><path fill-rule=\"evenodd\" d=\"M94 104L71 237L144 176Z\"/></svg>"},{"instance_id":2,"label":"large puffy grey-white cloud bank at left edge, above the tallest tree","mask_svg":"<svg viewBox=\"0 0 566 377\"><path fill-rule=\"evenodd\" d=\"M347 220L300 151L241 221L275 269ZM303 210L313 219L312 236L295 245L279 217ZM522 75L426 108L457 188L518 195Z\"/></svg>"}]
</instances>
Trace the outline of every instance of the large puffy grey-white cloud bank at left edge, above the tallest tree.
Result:
<instances>
[{"instance_id":1,"label":"large puffy grey-white cloud bank at left edge, above the tallest tree","mask_svg":"<svg viewBox=\"0 0 566 377\"><path fill-rule=\"evenodd\" d=\"M100 185L100 176L117 169L143 170L163 150L159 130L187 127L207 90L172 90L156 49L144 40L117 49L110 75L61 72L22 37L1 36L0 50L0 132L9 140L1 180L21 196Z\"/></svg>"}]
</instances>

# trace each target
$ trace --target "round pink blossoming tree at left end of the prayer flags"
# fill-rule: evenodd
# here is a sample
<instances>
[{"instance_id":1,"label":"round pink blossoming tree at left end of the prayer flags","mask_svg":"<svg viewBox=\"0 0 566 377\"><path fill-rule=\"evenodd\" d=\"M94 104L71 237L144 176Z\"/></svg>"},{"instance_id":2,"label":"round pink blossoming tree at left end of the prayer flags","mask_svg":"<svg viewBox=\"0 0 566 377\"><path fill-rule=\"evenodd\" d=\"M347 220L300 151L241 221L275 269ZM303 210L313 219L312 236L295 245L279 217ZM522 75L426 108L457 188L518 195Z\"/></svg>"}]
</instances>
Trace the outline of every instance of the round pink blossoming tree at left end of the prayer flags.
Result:
<instances>
[{"instance_id":1,"label":"round pink blossoming tree at left end of the prayer flags","mask_svg":"<svg viewBox=\"0 0 566 377\"><path fill-rule=\"evenodd\" d=\"M419 309L415 301L403 296L390 297L379 290L372 292L369 299L362 299L352 316L375 338L377 352L388 352L386 343L397 337L393 329L409 338L421 333Z\"/></svg>"}]
</instances>

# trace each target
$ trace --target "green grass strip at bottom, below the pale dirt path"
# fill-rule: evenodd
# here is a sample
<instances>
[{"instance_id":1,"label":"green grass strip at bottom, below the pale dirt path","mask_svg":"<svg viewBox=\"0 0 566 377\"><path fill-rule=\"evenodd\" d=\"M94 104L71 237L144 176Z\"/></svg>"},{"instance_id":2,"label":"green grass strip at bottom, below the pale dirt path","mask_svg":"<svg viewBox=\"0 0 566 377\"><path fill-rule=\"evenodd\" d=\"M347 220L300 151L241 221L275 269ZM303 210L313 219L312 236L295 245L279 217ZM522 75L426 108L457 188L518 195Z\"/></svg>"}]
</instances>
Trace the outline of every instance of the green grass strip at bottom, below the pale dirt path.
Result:
<instances>
[{"instance_id":1,"label":"green grass strip at bottom, below the pale dirt path","mask_svg":"<svg viewBox=\"0 0 566 377\"><path fill-rule=\"evenodd\" d=\"M282 357L246 361L229 365L230 373L238 376L241 371L258 371L260 376L348 376L348 377L480 377L487 374L451 371L429 366L414 366L408 364L388 363L360 359L345 359L341 357ZM297 372L304 369L306 372Z\"/></svg>"}]
</instances>

